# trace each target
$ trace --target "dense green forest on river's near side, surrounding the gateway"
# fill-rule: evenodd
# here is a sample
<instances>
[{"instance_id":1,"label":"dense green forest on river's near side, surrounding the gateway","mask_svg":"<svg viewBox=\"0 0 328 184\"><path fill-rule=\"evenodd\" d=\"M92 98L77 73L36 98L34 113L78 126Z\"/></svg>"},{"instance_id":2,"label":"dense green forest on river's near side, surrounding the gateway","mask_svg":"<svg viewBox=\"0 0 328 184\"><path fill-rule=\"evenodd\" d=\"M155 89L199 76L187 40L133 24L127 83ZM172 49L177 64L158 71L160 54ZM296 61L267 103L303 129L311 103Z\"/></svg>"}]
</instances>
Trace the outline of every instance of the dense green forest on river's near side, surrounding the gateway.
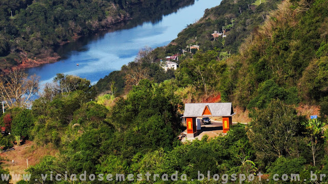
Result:
<instances>
[{"instance_id":1,"label":"dense green forest on river's near side, surrounding the gateway","mask_svg":"<svg viewBox=\"0 0 328 184\"><path fill-rule=\"evenodd\" d=\"M141 50L135 61L96 85L58 74L31 109L7 109L0 123L12 134L1 137L4 148L25 137L60 151L30 166L31 180L20 183L41 183L41 174L84 172L87 181L48 177L43 183L113 182L108 174L113 180L125 174L124 183L327 182L319 176L328 174L328 2L254 3L222 1L170 45ZM231 18L234 26L228 26ZM227 37L214 40L211 33L222 26ZM162 70L159 59L196 42L200 50L181 55L176 71ZM217 93L222 102L250 110L251 122L233 126L224 136L178 141L176 135L185 129L179 119L183 102ZM302 103L319 105L318 119L302 116L297 111ZM310 180L313 173L317 181ZM135 180L129 181L128 174ZM136 180L137 174L144 179ZM154 174L159 174L156 181ZM299 180L293 181L292 174Z\"/></svg>"}]
</instances>

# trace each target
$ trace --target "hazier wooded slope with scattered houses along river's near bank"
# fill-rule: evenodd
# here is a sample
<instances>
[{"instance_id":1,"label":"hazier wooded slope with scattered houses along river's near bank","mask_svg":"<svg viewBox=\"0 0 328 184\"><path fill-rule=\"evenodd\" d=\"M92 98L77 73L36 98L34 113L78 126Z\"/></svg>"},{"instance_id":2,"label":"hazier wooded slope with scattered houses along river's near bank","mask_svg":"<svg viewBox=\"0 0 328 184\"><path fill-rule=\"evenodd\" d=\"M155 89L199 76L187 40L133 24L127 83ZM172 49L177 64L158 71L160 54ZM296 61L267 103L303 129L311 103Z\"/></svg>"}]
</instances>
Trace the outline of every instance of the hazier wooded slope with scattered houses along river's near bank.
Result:
<instances>
[{"instance_id":1,"label":"hazier wooded slope with scattered houses along river's near bank","mask_svg":"<svg viewBox=\"0 0 328 184\"><path fill-rule=\"evenodd\" d=\"M269 1L259 6L254 5L254 2L254 0L222 1L220 6L207 9L200 20L195 24L187 25L187 28L181 31L178 37L167 47L155 48L154 51L151 48L145 48L145 50L140 51L134 63L123 66L121 71L115 71L104 79L100 79L96 84L97 91L102 93L108 90L108 83L115 81L117 90L121 93L124 90L125 81L129 80L125 78L136 75L135 71L140 70L144 71L141 78L147 77L155 82L162 82L174 77L173 71L164 73L160 70L158 62L166 56L181 54L181 50L188 50L186 47L190 44L200 45L202 51L215 50L221 59L229 57L238 51L244 38L247 38L254 29L256 30L264 22L265 17L270 11L277 8L277 3L280 1ZM211 34L214 31L222 32L222 27L227 37L214 39ZM194 50L193 53L195 53ZM185 53L185 55L185 57L179 57L180 63L192 57L189 53ZM214 58L214 60L216 59ZM149 62L151 65L148 64ZM129 82L127 85L130 86Z\"/></svg>"}]
</instances>

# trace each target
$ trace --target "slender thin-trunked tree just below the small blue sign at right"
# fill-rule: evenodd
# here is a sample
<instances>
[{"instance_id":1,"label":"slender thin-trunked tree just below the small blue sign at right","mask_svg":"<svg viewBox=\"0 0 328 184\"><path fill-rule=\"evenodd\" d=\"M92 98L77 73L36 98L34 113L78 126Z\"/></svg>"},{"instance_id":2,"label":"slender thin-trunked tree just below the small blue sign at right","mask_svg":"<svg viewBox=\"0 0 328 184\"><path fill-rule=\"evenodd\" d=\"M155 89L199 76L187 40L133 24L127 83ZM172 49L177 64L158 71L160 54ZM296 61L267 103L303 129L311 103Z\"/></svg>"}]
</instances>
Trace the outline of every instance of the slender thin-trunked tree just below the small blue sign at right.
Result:
<instances>
[{"instance_id":1,"label":"slender thin-trunked tree just below the small blue sign at right","mask_svg":"<svg viewBox=\"0 0 328 184\"><path fill-rule=\"evenodd\" d=\"M312 158L313 158L313 166L316 166L316 157L318 151L322 148L323 141L323 130L322 127L325 123L320 122L317 119L309 120L308 122L304 122L304 126L306 128L306 132L304 132L306 136L306 142L308 146L311 148Z\"/></svg>"}]
</instances>

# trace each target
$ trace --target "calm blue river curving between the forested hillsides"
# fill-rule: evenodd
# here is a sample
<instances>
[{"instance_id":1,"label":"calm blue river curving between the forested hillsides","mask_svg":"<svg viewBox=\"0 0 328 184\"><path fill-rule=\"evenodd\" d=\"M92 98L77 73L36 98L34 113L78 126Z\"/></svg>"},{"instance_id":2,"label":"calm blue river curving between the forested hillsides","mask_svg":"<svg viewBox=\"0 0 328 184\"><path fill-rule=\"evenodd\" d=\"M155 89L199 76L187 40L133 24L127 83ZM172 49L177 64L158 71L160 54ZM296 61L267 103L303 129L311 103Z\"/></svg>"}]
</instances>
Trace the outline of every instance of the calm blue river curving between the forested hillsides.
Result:
<instances>
[{"instance_id":1,"label":"calm blue river curving between the forested hillsides","mask_svg":"<svg viewBox=\"0 0 328 184\"><path fill-rule=\"evenodd\" d=\"M220 0L196 0L192 5L160 15L156 20L81 37L57 49L61 57L58 62L29 68L27 73L40 76L41 84L51 82L58 73L76 75L95 84L100 78L133 61L146 45L156 48L169 44L187 25L201 18L205 9L219 4Z\"/></svg>"}]
</instances>

